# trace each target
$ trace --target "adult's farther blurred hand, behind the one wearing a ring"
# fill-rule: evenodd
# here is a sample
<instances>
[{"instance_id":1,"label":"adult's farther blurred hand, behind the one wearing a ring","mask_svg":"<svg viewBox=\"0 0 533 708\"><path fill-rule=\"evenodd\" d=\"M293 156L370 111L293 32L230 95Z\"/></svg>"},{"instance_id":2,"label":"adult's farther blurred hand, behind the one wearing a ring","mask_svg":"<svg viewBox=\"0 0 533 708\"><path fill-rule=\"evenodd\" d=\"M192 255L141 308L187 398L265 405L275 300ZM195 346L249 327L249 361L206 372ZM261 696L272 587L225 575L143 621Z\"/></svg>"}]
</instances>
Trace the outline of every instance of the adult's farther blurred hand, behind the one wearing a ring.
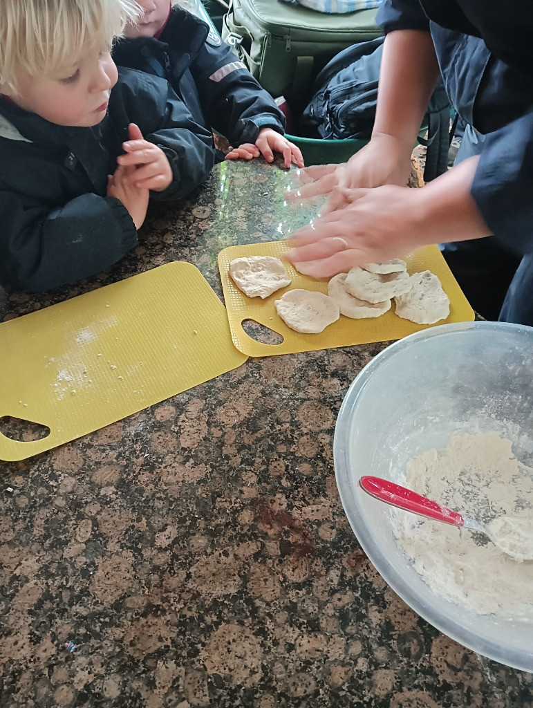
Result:
<instances>
[{"instance_id":1,"label":"adult's farther blurred hand, behind the one wearing a ring","mask_svg":"<svg viewBox=\"0 0 533 708\"><path fill-rule=\"evenodd\" d=\"M352 190L385 184L403 187L411 173L411 147L392 135L374 135L348 162L306 167L304 176L315 181L288 193L287 199L296 201L328 195L322 210L326 214L350 204Z\"/></svg>"}]
</instances>

